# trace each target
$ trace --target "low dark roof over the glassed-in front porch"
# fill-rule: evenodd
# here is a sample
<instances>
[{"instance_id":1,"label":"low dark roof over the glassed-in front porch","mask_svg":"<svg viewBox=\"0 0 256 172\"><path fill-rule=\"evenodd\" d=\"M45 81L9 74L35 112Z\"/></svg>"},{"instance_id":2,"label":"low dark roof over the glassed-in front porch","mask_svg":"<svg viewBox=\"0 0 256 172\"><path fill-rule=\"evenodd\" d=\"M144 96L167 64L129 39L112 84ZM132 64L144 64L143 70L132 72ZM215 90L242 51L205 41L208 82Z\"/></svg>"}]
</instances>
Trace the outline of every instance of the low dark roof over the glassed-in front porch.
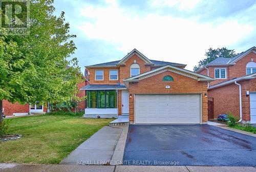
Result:
<instances>
[{"instance_id":1,"label":"low dark roof over the glassed-in front porch","mask_svg":"<svg viewBox=\"0 0 256 172\"><path fill-rule=\"evenodd\" d=\"M115 90L115 89L126 89L124 85L111 85L111 84L89 84L82 87L80 90Z\"/></svg>"}]
</instances>

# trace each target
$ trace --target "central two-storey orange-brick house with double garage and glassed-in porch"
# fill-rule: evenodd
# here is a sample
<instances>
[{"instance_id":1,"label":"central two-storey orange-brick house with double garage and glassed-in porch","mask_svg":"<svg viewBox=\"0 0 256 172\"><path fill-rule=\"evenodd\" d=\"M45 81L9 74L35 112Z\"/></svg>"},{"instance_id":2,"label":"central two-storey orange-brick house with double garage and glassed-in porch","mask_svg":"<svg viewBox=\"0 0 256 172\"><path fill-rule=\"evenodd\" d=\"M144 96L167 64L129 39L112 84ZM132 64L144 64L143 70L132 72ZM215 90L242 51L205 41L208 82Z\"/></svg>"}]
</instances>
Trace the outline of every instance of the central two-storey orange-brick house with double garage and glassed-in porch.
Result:
<instances>
[{"instance_id":1,"label":"central two-storey orange-brick house with double garage and glassed-in porch","mask_svg":"<svg viewBox=\"0 0 256 172\"><path fill-rule=\"evenodd\" d=\"M204 124L207 85L214 79L185 64L150 60L134 49L123 59L86 66L84 117L129 115L132 124Z\"/></svg>"}]
</instances>

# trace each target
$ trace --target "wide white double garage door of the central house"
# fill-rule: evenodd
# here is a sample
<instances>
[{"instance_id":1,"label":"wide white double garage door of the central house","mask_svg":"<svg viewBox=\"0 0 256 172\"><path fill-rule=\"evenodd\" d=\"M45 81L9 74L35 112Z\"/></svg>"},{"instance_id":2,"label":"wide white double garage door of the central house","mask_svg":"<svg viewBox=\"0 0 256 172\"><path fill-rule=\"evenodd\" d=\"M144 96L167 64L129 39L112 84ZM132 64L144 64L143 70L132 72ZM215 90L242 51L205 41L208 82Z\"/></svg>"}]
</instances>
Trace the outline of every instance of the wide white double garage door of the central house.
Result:
<instances>
[{"instance_id":1,"label":"wide white double garage door of the central house","mask_svg":"<svg viewBox=\"0 0 256 172\"><path fill-rule=\"evenodd\" d=\"M136 124L199 124L200 94L136 94Z\"/></svg>"}]
</instances>

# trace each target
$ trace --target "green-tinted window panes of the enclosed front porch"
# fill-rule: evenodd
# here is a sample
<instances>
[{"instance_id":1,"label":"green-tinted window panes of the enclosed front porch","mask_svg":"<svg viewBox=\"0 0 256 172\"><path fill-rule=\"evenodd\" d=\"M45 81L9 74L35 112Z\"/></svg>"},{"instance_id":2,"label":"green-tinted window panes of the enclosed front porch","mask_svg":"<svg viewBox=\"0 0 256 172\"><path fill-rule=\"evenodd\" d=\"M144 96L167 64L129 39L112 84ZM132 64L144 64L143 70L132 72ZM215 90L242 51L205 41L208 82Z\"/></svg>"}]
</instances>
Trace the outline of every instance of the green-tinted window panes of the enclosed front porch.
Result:
<instances>
[{"instance_id":1,"label":"green-tinted window panes of the enclosed front porch","mask_svg":"<svg viewBox=\"0 0 256 172\"><path fill-rule=\"evenodd\" d=\"M87 108L117 108L116 90L90 90L87 93Z\"/></svg>"}]
</instances>

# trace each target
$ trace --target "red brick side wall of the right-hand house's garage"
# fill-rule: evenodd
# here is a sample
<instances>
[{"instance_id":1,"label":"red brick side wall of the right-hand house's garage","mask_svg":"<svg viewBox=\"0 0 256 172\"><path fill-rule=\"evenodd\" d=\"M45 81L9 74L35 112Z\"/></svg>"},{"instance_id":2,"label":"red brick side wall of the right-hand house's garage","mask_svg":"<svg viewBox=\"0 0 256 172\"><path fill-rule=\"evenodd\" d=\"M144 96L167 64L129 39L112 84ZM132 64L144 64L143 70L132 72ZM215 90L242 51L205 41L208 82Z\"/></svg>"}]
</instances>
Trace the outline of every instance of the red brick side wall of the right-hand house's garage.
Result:
<instances>
[{"instance_id":1,"label":"red brick side wall of the right-hand house's garage","mask_svg":"<svg viewBox=\"0 0 256 172\"><path fill-rule=\"evenodd\" d=\"M239 86L229 84L227 86L208 90L208 97L214 98L214 118L219 114L231 112L235 116L240 116L239 107Z\"/></svg>"}]
</instances>

